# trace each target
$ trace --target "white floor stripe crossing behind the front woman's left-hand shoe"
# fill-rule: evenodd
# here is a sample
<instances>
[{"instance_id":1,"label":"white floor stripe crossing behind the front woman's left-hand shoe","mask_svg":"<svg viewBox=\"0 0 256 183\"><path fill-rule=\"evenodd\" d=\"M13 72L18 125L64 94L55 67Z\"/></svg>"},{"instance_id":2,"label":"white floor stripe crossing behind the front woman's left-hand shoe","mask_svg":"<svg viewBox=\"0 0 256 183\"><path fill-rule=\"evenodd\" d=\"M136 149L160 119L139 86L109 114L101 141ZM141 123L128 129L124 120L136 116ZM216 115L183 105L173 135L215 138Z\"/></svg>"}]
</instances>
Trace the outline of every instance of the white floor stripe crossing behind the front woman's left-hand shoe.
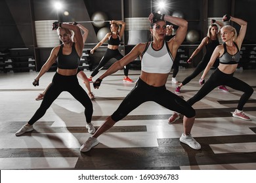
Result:
<instances>
[{"instance_id":1,"label":"white floor stripe crossing behind the front woman's left-hand shoe","mask_svg":"<svg viewBox=\"0 0 256 183\"><path fill-rule=\"evenodd\" d=\"M16 137L9 133L0 135L0 148L80 148L90 136L89 133L32 133ZM104 133L98 137L98 141L102 144L98 147L158 146L154 132Z\"/></svg>"}]
</instances>

